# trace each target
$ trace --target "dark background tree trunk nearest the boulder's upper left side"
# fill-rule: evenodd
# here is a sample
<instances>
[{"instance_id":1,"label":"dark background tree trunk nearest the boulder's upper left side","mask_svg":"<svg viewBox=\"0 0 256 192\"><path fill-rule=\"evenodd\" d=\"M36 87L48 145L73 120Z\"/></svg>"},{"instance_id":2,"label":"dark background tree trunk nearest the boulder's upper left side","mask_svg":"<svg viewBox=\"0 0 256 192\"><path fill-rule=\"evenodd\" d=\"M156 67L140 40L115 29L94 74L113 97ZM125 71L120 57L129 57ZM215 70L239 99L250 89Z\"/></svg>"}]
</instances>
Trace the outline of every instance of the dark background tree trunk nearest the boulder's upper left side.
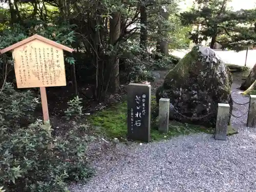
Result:
<instances>
[{"instance_id":1,"label":"dark background tree trunk nearest the boulder's upper left side","mask_svg":"<svg viewBox=\"0 0 256 192\"><path fill-rule=\"evenodd\" d=\"M162 7L159 8L160 15L164 18L164 20L168 20L169 18L169 13L165 11ZM157 41L157 52L162 53L165 56L169 55L169 45L167 42L167 35L161 35L165 34L166 29L162 28L163 22L159 23L158 25L158 34L159 34L159 39ZM163 32L164 31L164 32Z\"/></svg>"}]
</instances>

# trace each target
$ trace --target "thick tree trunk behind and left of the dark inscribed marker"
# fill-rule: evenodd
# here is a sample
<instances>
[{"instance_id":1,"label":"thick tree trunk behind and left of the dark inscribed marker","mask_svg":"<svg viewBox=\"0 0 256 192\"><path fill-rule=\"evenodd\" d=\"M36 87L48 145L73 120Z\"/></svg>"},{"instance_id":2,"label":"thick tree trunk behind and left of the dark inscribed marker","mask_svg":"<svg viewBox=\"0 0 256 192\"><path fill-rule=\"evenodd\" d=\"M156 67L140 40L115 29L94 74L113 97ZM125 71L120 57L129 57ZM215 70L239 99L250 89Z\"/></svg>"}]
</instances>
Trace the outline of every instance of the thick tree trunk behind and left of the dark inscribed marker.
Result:
<instances>
[{"instance_id":1,"label":"thick tree trunk behind and left of the dark inscribed marker","mask_svg":"<svg viewBox=\"0 0 256 192\"><path fill-rule=\"evenodd\" d=\"M116 93L119 91L119 58L118 47L119 44L117 42L120 37L120 29L121 29L121 14L116 12L112 14L112 19L110 19L110 44L114 46L114 54L111 55L109 59L109 70L110 70L110 86L109 91L112 93Z\"/></svg>"}]
</instances>

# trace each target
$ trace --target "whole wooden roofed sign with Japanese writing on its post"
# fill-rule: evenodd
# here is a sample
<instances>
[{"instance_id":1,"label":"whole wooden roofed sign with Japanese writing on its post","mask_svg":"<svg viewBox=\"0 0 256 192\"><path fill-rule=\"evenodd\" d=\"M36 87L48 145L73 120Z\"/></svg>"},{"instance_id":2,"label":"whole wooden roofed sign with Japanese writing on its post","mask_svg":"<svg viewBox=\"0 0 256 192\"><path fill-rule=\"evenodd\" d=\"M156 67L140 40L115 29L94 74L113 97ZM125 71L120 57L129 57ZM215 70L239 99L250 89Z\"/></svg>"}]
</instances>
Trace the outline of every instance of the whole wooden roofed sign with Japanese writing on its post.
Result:
<instances>
[{"instance_id":1,"label":"whole wooden roofed sign with Japanese writing on its post","mask_svg":"<svg viewBox=\"0 0 256 192\"><path fill-rule=\"evenodd\" d=\"M74 51L35 34L0 51L12 51L17 88L40 88L44 121L49 120L46 87L66 86L63 50Z\"/></svg>"}]
</instances>

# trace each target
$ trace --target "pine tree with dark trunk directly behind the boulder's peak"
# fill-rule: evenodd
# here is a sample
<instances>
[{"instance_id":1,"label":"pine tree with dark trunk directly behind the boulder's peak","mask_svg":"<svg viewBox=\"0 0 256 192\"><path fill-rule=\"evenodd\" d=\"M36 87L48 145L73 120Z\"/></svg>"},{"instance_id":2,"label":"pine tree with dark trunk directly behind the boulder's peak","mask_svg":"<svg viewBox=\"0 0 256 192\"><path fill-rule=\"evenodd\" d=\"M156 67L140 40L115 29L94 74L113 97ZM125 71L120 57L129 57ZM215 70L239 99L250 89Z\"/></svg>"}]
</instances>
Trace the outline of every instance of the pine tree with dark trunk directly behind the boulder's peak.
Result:
<instances>
[{"instance_id":1,"label":"pine tree with dark trunk directly behind the boulder's peak","mask_svg":"<svg viewBox=\"0 0 256 192\"><path fill-rule=\"evenodd\" d=\"M227 8L230 0L195 0L190 11L181 13L183 25L195 25L190 39L196 44L211 38L210 48L214 48L218 35L228 33L231 11Z\"/></svg>"}]
</instances>

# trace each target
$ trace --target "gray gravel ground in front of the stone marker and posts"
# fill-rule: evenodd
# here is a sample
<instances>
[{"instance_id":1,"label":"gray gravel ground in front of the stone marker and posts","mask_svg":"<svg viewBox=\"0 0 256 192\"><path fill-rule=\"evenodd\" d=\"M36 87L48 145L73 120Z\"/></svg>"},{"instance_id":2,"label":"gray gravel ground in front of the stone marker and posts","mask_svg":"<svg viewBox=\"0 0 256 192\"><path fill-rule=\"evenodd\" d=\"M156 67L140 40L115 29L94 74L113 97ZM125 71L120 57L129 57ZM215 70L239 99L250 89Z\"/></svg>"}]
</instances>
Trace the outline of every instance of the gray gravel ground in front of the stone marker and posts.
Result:
<instances>
[{"instance_id":1,"label":"gray gravel ground in front of the stone marker and posts","mask_svg":"<svg viewBox=\"0 0 256 192\"><path fill-rule=\"evenodd\" d=\"M243 103L248 97L233 99ZM235 115L246 106L234 105ZM256 191L256 130L246 127L247 115L233 118L239 134L227 141L212 135L180 136L149 144L118 144L93 162L97 175L71 192Z\"/></svg>"}]
</instances>

